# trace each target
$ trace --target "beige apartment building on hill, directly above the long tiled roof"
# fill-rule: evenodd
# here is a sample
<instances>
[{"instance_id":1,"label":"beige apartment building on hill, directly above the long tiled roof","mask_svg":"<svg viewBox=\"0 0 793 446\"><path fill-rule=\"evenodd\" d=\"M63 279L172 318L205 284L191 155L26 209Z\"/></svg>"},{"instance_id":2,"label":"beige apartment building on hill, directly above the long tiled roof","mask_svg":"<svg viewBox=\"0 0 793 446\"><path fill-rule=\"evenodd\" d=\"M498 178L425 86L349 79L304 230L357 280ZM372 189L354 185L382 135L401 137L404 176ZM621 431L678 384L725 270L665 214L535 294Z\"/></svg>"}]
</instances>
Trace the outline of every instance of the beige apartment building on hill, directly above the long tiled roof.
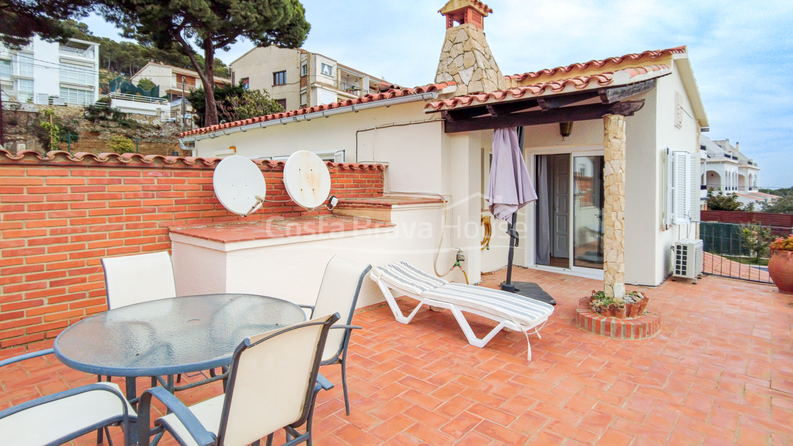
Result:
<instances>
[{"instance_id":1,"label":"beige apartment building on hill, directly above the long tiled roof","mask_svg":"<svg viewBox=\"0 0 793 446\"><path fill-rule=\"evenodd\" d=\"M232 81L264 88L285 110L332 104L400 88L304 49L256 47L231 63Z\"/></svg>"}]
</instances>

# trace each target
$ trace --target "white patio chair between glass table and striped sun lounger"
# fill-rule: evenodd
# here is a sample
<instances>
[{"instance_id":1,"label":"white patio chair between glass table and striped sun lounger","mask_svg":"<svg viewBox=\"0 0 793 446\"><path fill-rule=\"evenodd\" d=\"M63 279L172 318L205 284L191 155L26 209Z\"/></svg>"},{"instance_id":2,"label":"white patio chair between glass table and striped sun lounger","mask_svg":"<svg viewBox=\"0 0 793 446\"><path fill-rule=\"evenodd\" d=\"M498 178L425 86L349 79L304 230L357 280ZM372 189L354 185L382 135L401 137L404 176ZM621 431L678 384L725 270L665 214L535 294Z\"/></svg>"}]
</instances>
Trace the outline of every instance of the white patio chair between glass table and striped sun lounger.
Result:
<instances>
[{"instance_id":1,"label":"white patio chair between glass table and striped sun lounger","mask_svg":"<svg viewBox=\"0 0 793 446\"><path fill-rule=\"evenodd\" d=\"M347 410L347 415L350 414L350 398L347 394L347 345L350 344L352 330L362 328L358 325L350 325L350 323L355 304L358 302L358 294L361 292L363 279L371 268L371 265L363 265L334 256L325 267L320 293L316 296L316 304L314 306L301 305L303 308L311 309L308 317L313 317L314 314L333 312L338 312L341 315L339 322L344 325L336 324L331 327L333 330L328 334L328 342L325 344L320 365L341 364L344 409Z\"/></svg>"}]
</instances>

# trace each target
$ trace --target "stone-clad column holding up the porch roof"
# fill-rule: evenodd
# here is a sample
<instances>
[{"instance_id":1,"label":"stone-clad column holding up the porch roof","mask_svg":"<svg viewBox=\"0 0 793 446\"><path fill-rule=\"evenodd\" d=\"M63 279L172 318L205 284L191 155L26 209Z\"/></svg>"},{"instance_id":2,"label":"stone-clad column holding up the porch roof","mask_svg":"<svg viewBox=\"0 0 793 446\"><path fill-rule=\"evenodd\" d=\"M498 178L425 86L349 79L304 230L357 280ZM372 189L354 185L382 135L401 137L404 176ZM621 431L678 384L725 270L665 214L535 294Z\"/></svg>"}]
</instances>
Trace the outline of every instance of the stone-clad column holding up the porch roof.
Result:
<instances>
[{"instance_id":1,"label":"stone-clad column holding up the porch roof","mask_svg":"<svg viewBox=\"0 0 793 446\"><path fill-rule=\"evenodd\" d=\"M603 117L603 291L625 297L625 117Z\"/></svg>"}]
</instances>

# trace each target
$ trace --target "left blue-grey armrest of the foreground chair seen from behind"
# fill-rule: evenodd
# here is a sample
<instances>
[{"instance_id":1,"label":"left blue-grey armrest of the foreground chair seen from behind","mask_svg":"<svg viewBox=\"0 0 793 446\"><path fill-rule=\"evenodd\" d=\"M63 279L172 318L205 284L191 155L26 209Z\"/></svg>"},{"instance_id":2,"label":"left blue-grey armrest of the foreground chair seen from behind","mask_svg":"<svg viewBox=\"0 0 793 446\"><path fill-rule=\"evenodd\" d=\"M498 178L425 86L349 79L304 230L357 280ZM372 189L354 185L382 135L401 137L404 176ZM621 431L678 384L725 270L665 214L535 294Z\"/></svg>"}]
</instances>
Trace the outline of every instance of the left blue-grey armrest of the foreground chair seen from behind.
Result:
<instances>
[{"instance_id":1,"label":"left blue-grey armrest of the foreground chair seen from behind","mask_svg":"<svg viewBox=\"0 0 793 446\"><path fill-rule=\"evenodd\" d=\"M187 432L193 437L193 440L199 446L209 446L215 444L215 434L206 430L201 421L198 421L193 412L185 406L185 403L179 401L178 398L170 394L168 390L163 387L151 387L140 395L140 404L138 406L138 446L149 446L151 438L149 437L149 425L151 420L151 398L157 398L162 402L174 415L182 422ZM169 429L170 431L170 429ZM177 436L174 432L171 435ZM180 444L184 441L177 438Z\"/></svg>"}]
</instances>

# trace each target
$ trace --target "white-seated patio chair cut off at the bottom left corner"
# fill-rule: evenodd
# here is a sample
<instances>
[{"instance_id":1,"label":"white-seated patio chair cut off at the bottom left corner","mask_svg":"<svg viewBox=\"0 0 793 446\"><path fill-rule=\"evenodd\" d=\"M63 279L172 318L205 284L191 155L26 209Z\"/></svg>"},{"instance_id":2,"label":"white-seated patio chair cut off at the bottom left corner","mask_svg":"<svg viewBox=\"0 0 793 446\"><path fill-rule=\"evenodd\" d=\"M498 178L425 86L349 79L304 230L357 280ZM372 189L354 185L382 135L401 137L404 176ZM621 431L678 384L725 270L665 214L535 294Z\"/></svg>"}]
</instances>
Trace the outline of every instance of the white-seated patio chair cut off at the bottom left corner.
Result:
<instances>
[{"instance_id":1,"label":"white-seated patio chair cut off at the bottom left corner","mask_svg":"<svg viewBox=\"0 0 793 446\"><path fill-rule=\"evenodd\" d=\"M4 359L0 361L0 367L52 352L49 348ZM121 425L125 444L130 444L130 423L136 420L135 409L116 384L89 384L0 410L0 444L56 446L97 429L103 429L110 438L108 427L113 425Z\"/></svg>"}]
</instances>

